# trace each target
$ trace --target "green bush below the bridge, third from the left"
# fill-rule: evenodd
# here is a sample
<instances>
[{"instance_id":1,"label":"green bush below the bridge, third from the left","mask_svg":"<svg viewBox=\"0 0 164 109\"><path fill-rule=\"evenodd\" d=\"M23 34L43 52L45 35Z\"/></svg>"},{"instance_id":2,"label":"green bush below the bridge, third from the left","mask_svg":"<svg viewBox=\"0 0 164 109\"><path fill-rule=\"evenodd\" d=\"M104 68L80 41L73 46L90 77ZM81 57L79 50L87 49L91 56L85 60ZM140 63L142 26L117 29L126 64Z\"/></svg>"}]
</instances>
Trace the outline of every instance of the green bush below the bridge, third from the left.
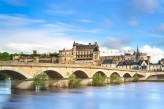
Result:
<instances>
[{"instance_id":1,"label":"green bush below the bridge, third from the left","mask_svg":"<svg viewBox=\"0 0 164 109\"><path fill-rule=\"evenodd\" d=\"M106 76L102 76L99 73L96 73L95 75L93 75L92 78L92 85L93 86L104 86L106 83Z\"/></svg>"}]
</instances>

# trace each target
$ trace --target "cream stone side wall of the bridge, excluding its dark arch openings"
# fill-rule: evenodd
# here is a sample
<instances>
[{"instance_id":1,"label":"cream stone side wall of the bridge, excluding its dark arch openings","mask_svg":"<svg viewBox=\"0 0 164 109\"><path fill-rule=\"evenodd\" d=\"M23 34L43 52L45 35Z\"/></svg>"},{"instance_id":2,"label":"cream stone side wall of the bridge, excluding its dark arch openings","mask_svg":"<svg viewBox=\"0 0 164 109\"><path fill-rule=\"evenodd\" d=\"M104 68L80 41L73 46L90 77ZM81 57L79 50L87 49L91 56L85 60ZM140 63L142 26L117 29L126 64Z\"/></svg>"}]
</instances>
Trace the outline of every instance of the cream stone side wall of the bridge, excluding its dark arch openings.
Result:
<instances>
[{"instance_id":1,"label":"cream stone side wall of the bridge, excluding its dark arch openings","mask_svg":"<svg viewBox=\"0 0 164 109\"><path fill-rule=\"evenodd\" d=\"M6 71L10 74L21 74L26 78L32 78L38 72L46 72L52 77L58 77L58 74L63 78L67 78L69 73L86 74L88 78L92 78L97 72L110 77L113 73L118 73L121 77L129 74L133 77L136 73L147 78L151 75L161 75L164 72L153 72L143 70L129 70L121 68L109 68L104 66L93 66L84 64L53 64L53 63L25 63L25 62L0 62L0 71ZM15 73L13 73L15 72ZM81 75L80 75L81 76ZM79 77L80 77L79 76Z\"/></svg>"}]
</instances>

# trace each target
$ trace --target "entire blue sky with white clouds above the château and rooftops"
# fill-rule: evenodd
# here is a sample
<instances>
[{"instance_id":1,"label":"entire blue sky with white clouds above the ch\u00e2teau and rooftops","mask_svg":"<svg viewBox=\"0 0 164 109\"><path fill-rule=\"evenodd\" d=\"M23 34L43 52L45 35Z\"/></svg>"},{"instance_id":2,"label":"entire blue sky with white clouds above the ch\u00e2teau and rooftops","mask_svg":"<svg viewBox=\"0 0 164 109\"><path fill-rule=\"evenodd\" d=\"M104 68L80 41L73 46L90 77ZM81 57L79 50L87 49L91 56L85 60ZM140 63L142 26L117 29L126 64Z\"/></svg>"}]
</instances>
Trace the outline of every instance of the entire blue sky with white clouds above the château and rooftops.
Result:
<instances>
[{"instance_id":1,"label":"entire blue sky with white clouds above the ch\u00e2teau and rooftops","mask_svg":"<svg viewBox=\"0 0 164 109\"><path fill-rule=\"evenodd\" d=\"M98 42L101 55L164 58L164 0L0 0L0 52L40 53Z\"/></svg>"}]
</instances>

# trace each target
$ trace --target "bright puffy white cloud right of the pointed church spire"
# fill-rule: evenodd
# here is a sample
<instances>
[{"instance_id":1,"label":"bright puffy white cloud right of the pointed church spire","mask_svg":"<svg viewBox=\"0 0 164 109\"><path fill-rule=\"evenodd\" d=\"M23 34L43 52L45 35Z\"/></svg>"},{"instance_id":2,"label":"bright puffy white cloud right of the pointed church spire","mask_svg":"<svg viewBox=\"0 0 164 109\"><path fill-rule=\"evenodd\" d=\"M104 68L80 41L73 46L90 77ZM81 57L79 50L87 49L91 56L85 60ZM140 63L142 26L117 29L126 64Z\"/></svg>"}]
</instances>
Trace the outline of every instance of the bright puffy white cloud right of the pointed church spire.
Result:
<instances>
[{"instance_id":1,"label":"bright puffy white cloud right of the pointed church spire","mask_svg":"<svg viewBox=\"0 0 164 109\"><path fill-rule=\"evenodd\" d=\"M164 58L164 51L157 47L145 45L140 48L140 51L151 56L151 62L153 63L158 62L158 60L160 60L161 58Z\"/></svg>"}]
</instances>

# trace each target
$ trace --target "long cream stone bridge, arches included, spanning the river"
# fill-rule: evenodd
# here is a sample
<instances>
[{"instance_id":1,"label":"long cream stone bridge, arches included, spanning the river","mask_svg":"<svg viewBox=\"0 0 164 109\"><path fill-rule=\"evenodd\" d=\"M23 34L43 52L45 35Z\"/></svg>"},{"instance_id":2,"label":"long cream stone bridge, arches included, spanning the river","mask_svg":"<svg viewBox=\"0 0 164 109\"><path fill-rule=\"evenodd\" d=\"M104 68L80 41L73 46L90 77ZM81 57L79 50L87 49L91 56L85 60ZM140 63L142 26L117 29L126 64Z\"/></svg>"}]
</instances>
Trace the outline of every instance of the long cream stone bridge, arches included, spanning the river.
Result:
<instances>
[{"instance_id":1,"label":"long cream stone bridge, arches included, spanning the river","mask_svg":"<svg viewBox=\"0 0 164 109\"><path fill-rule=\"evenodd\" d=\"M112 74L118 74L121 78L132 78L137 74L140 80L164 79L164 72L127 70L81 64L0 62L0 73L1 72L8 74L12 80L30 80L34 75L42 72L46 73L54 80L67 79L71 74L75 74L77 78L91 79L96 73L105 75L109 78Z\"/></svg>"}]
</instances>

